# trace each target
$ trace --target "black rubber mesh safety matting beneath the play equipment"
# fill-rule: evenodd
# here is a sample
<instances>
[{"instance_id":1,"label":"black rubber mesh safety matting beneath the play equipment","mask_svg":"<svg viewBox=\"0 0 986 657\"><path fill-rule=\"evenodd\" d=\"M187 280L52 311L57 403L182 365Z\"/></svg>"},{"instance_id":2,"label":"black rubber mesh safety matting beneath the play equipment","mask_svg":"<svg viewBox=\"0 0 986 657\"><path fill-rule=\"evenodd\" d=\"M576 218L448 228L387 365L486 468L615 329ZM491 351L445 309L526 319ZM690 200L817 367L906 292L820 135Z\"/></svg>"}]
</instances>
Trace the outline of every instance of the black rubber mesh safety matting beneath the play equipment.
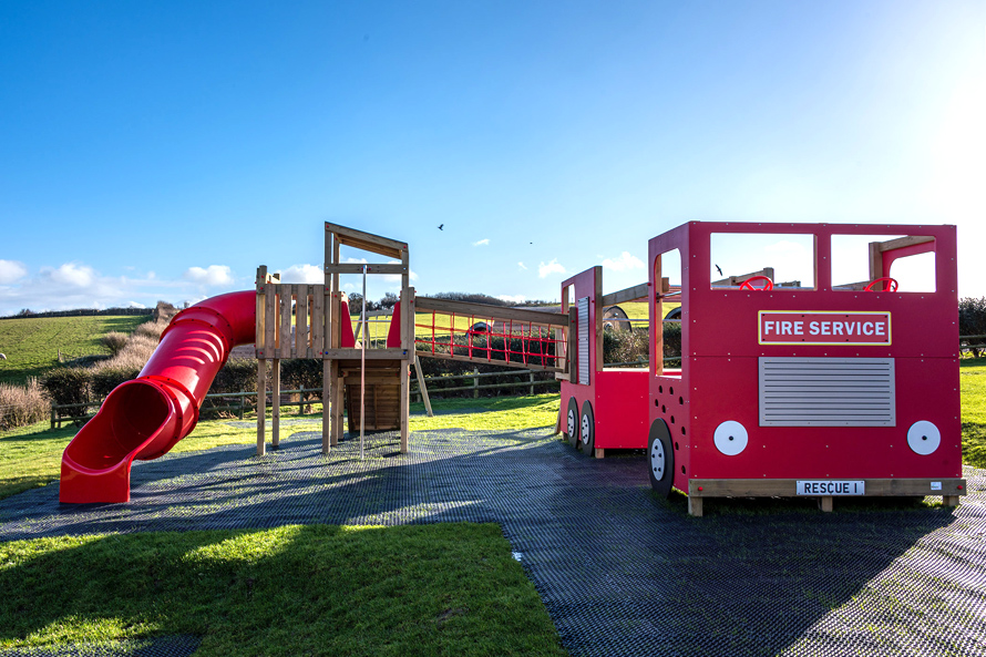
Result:
<instances>
[{"instance_id":1,"label":"black rubber mesh safety matting beneath the play equipment","mask_svg":"<svg viewBox=\"0 0 986 657\"><path fill-rule=\"evenodd\" d=\"M957 509L650 493L643 455L595 460L547 430L320 435L137 463L129 504L0 501L0 540L296 523L496 522L582 655L986 655L986 472Z\"/></svg>"}]
</instances>

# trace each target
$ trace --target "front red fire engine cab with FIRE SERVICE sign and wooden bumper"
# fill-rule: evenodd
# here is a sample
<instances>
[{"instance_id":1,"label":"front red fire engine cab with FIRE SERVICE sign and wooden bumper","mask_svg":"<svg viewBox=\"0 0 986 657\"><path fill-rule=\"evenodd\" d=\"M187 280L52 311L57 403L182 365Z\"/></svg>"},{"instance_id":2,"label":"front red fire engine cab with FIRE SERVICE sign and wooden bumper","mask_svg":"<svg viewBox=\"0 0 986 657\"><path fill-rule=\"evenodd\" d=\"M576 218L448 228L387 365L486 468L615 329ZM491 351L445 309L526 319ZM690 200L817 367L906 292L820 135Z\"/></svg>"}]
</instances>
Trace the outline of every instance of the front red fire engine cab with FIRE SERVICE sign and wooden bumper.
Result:
<instances>
[{"instance_id":1,"label":"front red fire engine cab with FIRE SERVICE sign and wooden bumper","mask_svg":"<svg viewBox=\"0 0 986 657\"><path fill-rule=\"evenodd\" d=\"M712 247L751 239L800 245L790 261L805 280L713 285ZM859 245L865 279L851 280ZM891 278L908 261L926 269L921 287ZM692 515L705 497L804 495L829 511L842 495L965 494L954 226L692 222L649 242L648 269L650 326L681 302L680 369L663 367L650 331L656 491L687 494Z\"/></svg>"}]
</instances>

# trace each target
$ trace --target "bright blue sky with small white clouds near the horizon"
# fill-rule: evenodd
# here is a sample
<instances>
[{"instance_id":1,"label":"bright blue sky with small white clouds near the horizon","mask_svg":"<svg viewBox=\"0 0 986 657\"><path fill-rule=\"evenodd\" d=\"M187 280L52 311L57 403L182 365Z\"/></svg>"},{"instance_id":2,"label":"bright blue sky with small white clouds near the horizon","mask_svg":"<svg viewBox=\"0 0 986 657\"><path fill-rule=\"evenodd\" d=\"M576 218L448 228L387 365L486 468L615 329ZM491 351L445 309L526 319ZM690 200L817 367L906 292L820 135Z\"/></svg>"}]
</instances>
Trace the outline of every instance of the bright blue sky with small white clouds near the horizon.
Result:
<instances>
[{"instance_id":1,"label":"bright blue sky with small white clouds near the horizon","mask_svg":"<svg viewBox=\"0 0 986 657\"><path fill-rule=\"evenodd\" d=\"M516 299L692 219L956 224L986 296L984 116L986 0L10 0L0 315L301 280L326 220Z\"/></svg>"}]
</instances>

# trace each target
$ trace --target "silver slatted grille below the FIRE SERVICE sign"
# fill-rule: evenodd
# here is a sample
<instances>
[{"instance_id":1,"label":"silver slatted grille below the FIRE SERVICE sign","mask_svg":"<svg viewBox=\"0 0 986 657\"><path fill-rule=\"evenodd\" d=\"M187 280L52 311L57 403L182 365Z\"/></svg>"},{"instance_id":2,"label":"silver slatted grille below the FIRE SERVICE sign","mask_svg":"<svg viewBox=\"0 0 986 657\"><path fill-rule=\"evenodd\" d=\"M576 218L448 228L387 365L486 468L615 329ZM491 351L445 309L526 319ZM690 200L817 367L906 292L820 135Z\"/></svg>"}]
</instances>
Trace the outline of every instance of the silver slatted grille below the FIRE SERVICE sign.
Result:
<instances>
[{"instance_id":1,"label":"silver slatted grille below the FIRE SERVICE sign","mask_svg":"<svg viewBox=\"0 0 986 657\"><path fill-rule=\"evenodd\" d=\"M761 427L894 427L893 358L761 358Z\"/></svg>"}]
</instances>

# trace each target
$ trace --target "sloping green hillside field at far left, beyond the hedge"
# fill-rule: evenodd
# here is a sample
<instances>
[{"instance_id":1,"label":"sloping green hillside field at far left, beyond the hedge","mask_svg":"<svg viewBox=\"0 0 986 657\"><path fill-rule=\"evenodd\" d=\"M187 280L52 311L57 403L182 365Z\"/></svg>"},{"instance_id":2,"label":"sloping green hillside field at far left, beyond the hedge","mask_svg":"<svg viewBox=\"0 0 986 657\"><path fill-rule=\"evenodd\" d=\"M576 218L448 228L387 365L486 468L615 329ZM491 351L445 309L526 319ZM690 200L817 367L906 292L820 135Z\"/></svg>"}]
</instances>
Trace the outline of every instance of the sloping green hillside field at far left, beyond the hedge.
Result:
<instances>
[{"instance_id":1,"label":"sloping green hillside field at far left, beyond the hedge","mask_svg":"<svg viewBox=\"0 0 986 657\"><path fill-rule=\"evenodd\" d=\"M23 383L58 362L58 351L70 358L109 353L99 340L110 331L133 332L150 315L116 317L37 317L0 319L0 382Z\"/></svg>"}]
</instances>

